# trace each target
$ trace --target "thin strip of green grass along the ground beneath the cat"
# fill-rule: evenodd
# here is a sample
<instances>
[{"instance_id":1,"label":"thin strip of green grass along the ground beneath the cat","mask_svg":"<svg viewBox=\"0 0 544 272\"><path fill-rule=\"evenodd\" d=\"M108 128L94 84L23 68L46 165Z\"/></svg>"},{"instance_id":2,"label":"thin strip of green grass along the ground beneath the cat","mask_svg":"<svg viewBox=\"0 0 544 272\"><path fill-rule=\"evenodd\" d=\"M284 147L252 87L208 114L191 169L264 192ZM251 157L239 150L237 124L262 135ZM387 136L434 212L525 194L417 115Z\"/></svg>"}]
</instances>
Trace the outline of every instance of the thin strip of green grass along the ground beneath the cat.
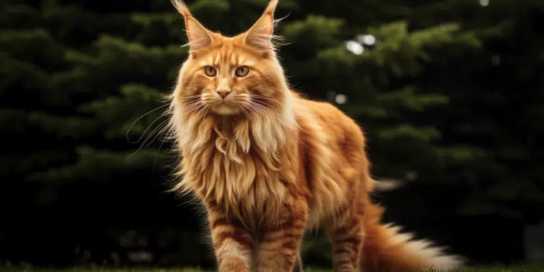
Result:
<instances>
[{"instance_id":1,"label":"thin strip of green grass along the ground beneath the cat","mask_svg":"<svg viewBox=\"0 0 544 272\"><path fill-rule=\"evenodd\" d=\"M193 268L22 268L1 267L1 272L204 272ZM324 269L307 268L307 272L331 272ZM427 271L426 271L427 272ZM439 272L439 271L429 271ZM453 271L452 271L453 272ZM466 268L455 272L544 272L544 266L499 266L494 268Z\"/></svg>"}]
</instances>

